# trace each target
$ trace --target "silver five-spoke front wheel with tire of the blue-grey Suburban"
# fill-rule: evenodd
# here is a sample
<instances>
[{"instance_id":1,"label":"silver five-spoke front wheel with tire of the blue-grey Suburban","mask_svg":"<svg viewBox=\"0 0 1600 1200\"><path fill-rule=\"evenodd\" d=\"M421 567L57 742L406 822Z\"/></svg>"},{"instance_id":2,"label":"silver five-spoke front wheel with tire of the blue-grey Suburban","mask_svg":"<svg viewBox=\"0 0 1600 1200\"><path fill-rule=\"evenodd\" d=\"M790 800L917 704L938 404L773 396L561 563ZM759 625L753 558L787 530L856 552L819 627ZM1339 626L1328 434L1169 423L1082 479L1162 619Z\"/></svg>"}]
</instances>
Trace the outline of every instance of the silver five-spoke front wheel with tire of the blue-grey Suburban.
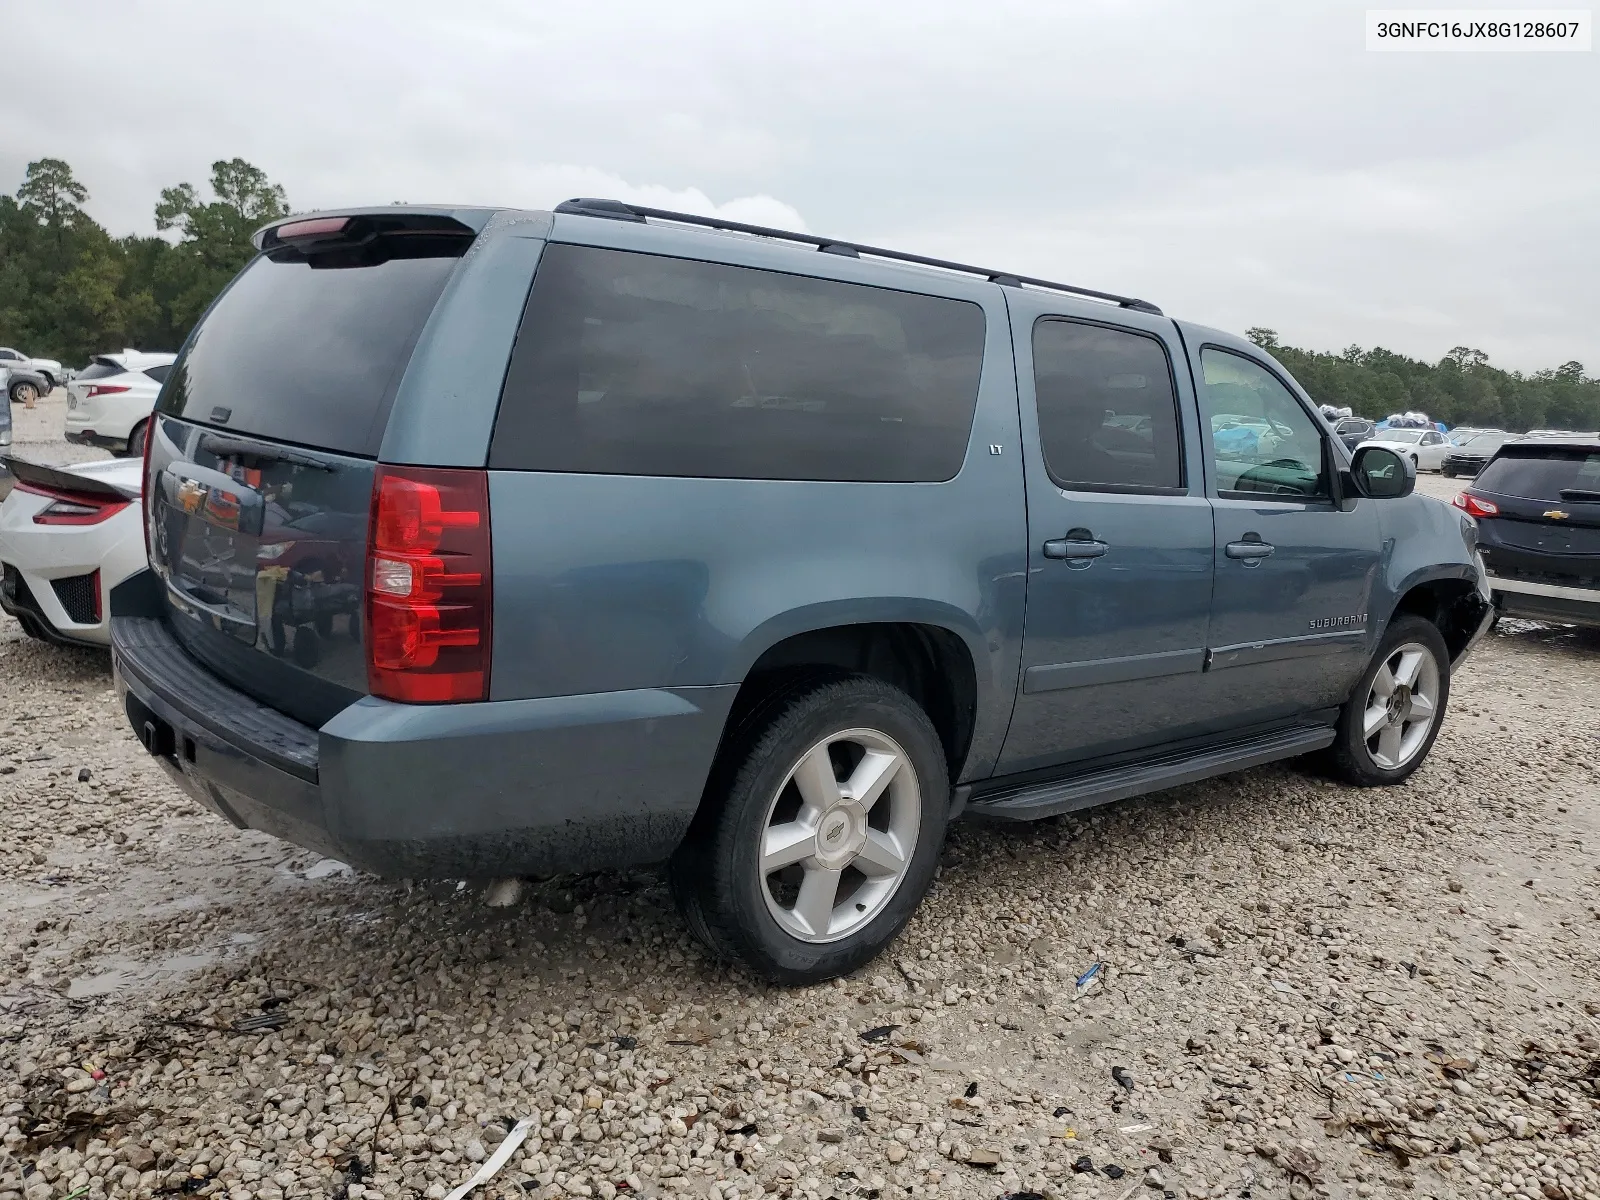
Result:
<instances>
[{"instance_id":1,"label":"silver five-spoke front wheel with tire of the blue-grey Suburban","mask_svg":"<svg viewBox=\"0 0 1600 1200\"><path fill-rule=\"evenodd\" d=\"M1333 765L1360 787L1398 784L1434 747L1450 702L1450 651L1419 616L1390 622L1339 712Z\"/></svg>"}]
</instances>

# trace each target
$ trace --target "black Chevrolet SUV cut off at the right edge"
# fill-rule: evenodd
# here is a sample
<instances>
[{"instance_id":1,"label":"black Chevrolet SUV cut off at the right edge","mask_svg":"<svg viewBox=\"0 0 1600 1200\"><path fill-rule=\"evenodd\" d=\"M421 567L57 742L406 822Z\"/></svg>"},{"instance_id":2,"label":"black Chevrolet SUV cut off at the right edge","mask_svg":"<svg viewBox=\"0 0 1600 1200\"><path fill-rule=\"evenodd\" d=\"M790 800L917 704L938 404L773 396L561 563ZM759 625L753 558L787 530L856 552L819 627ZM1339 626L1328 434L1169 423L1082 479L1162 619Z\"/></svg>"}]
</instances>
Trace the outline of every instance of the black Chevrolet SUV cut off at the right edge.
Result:
<instances>
[{"instance_id":1,"label":"black Chevrolet SUV cut off at the right edge","mask_svg":"<svg viewBox=\"0 0 1600 1200\"><path fill-rule=\"evenodd\" d=\"M1501 613L1600 626L1600 435L1510 442L1454 502Z\"/></svg>"}]
</instances>

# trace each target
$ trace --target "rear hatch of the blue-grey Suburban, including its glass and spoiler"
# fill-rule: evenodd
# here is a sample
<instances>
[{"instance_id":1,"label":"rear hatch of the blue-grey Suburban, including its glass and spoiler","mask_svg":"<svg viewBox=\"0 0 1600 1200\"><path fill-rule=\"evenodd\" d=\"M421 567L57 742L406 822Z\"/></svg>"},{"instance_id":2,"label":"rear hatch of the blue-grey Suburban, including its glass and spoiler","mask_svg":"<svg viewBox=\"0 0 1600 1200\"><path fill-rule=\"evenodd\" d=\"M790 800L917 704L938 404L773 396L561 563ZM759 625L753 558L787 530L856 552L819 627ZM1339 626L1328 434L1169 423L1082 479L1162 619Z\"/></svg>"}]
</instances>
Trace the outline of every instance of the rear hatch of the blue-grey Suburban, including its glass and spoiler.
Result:
<instances>
[{"instance_id":1,"label":"rear hatch of the blue-grey Suburban, including its glass and spoiler","mask_svg":"<svg viewBox=\"0 0 1600 1200\"><path fill-rule=\"evenodd\" d=\"M374 459L472 237L414 211L269 229L162 389L146 504L166 621L213 674L309 725L368 691Z\"/></svg>"}]
</instances>

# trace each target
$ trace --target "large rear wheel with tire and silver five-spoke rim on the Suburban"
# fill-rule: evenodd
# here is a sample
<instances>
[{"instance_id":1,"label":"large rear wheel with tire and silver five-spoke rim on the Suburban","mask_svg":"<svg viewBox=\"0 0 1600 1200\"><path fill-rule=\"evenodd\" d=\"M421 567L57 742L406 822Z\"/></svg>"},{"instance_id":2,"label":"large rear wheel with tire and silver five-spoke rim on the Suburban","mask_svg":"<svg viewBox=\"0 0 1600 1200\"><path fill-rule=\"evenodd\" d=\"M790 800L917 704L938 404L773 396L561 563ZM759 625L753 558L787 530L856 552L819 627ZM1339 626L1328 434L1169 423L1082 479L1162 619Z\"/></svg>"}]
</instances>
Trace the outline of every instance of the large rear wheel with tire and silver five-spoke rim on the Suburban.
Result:
<instances>
[{"instance_id":1,"label":"large rear wheel with tire and silver five-spoke rim on the Suburban","mask_svg":"<svg viewBox=\"0 0 1600 1200\"><path fill-rule=\"evenodd\" d=\"M672 858L672 894L714 954L784 984L853 971L933 882L950 784L902 691L850 677L795 686L725 747Z\"/></svg>"}]
</instances>

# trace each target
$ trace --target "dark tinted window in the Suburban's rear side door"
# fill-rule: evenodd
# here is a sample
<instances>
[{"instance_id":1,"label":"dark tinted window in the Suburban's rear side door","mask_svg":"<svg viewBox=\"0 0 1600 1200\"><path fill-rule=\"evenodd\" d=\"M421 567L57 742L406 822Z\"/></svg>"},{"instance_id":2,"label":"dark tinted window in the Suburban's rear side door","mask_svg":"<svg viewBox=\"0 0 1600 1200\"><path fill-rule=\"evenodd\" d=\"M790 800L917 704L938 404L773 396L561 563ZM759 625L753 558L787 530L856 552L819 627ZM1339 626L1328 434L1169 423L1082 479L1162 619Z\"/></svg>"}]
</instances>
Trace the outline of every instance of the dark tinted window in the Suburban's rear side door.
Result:
<instances>
[{"instance_id":1,"label":"dark tinted window in the Suburban's rear side door","mask_svg":"<svg viewBox=\"0 0 1600 1200\"><path fill-rule=\"evenodd\" d=\"M1182 491L1178 395L1155 338L1045 318L1034 325L1045 467L1077 491Z\"/></svg>"}]
</instances>

